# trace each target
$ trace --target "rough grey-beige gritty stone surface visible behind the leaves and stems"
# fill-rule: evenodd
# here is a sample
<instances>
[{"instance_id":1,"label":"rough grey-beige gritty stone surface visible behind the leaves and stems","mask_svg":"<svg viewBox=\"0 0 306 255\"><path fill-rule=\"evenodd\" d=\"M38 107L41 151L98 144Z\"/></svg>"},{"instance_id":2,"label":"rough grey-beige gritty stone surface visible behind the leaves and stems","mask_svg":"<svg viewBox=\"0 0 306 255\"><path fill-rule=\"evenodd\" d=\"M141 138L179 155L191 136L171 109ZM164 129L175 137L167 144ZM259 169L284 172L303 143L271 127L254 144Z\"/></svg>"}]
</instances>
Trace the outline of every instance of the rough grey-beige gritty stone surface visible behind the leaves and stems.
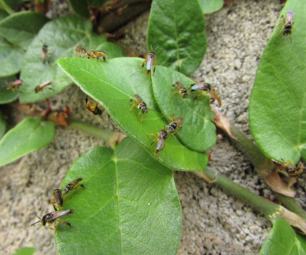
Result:
<instances>
[{"instance_id":1,"label":"rough grey-beige gritty stone surface visible behind the leaves and stems","mask_svg":"<svg viewBox=\"0 0 306 255\"><path fill-rule=\"evenodd\" d=\"M275 0L245 0L225 5L206 15L208 48L205 58L191 78L217 87L222 99L220 111L251 138L248 104L252 84L264 47L282 6ZM123 27L120 41L136 52L146 54L146 28L149 13ZM103 113L103 120L88 114L84 93L71 86L51 98L54 108L69 105L72 117L107 130L118 130ZM12 111L17 122L24 116ZM52 210L51 190L63 179L69 166L93 146L105 145L94 137L71 128L58 127L54 140L0 169L2 210L0 211L0 253L11 254L23 246L36 254L55 254L54 234L41 226L30 227L35 215ZM209 167L256 194L270 198L272 192L253 170L249 161L227 138L210 150ZM179 254L258 254L271 230L271 223L243 201L208 184L189 172L174 172L182 202L183 225ZM301 183L301 181L299 181ZM298 195L302 195L299 190Z\"/></svg>"}]
</instances>

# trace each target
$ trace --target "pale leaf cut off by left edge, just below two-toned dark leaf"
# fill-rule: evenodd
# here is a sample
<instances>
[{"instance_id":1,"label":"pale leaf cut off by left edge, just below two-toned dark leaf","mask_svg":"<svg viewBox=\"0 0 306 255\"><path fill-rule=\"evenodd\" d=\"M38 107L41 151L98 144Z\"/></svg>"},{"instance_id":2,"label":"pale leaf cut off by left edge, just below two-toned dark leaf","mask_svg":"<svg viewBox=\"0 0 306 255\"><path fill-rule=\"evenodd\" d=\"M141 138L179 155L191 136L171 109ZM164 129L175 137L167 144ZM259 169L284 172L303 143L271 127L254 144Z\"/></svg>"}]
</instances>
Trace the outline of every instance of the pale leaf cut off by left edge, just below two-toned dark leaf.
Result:
<instances>
[{"instance_id":1,"label":"pale leaf cut off by left edge, just below two-toned dark leaf","mask_svg":"<svg viewBox=\"0 0 306 255\"><path fill-rule=\"evenodd\" d=\"M4 38L0 38L0 63L5 63L0 68L0 77L7 77L20 71L24 51L15 47Z\"/></svg>"}]
</instances>

